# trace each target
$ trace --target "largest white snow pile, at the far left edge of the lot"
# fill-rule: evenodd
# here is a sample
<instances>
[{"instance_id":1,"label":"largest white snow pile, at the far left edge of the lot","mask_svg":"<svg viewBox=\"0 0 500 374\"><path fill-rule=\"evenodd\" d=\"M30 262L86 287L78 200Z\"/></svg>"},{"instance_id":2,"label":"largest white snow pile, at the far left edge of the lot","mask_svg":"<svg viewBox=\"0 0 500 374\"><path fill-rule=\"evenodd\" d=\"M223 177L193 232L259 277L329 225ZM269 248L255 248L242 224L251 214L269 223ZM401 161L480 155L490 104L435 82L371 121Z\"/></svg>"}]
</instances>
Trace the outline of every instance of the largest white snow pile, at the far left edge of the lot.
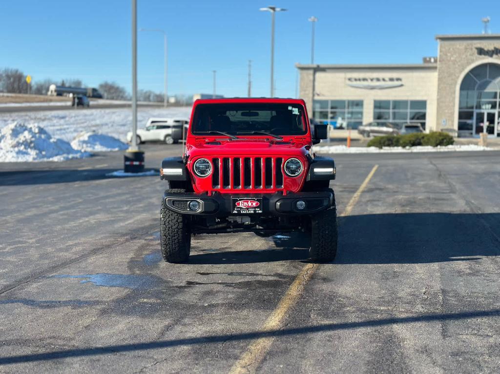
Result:
<instances>
[{"instance_id":1,"label":"largest white snow pile, at the far left edge of the lot","mask_svg":"<svg viewBox=\"0 0 500 374\"><path fill-rule=\"evenodd\" d=\"M54 139L36 124L13 122L0 131L0 162L63 161L89 157L61 139Z\"/></svg>"}]
</instances>

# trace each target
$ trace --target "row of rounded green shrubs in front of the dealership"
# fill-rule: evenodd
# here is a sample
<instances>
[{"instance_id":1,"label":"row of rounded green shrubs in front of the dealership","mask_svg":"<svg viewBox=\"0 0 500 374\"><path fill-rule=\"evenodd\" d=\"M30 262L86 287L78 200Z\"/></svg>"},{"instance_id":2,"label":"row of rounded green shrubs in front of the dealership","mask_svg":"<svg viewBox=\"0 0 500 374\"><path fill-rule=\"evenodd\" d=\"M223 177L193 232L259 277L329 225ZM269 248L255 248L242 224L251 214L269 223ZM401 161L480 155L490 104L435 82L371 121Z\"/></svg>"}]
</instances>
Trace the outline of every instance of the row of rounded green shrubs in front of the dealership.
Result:
<instances>
[{"instance_id":1,"label":"row of rounded green shrubs in front of the dealership","mask_svg":"<svg viewBox=\"0 0 500 374\"><path fill-rule=\"evenodd\" d=\"M376 136L371 139L367 147L415 147L417 145L430 145L437 147L438 145L453 144L453 137L445 132L431 132L429 134L416 132L406 135L387 135Z\"/></svg>"}]
</instances>

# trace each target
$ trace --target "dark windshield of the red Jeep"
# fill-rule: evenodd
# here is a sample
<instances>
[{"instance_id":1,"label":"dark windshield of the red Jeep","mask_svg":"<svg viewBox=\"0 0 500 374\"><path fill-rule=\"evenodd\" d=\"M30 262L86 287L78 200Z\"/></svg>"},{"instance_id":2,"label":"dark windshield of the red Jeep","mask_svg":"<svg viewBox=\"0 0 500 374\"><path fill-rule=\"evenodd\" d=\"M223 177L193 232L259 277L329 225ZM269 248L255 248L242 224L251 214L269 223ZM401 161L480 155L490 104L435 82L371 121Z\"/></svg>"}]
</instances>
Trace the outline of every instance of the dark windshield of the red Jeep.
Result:
<instances>
[{"instance_id":1,"label":"dark windshield of the red Jeep","mask_svg":"<svg viewBox=\"0 0 500 374\"><path fill-rule=\"evenodd\" d=\"M229 103L196 106L191 132L202 135L224 132L231 135L304 135L307 122L297 104Z\"/></svg>"}]
</instances>

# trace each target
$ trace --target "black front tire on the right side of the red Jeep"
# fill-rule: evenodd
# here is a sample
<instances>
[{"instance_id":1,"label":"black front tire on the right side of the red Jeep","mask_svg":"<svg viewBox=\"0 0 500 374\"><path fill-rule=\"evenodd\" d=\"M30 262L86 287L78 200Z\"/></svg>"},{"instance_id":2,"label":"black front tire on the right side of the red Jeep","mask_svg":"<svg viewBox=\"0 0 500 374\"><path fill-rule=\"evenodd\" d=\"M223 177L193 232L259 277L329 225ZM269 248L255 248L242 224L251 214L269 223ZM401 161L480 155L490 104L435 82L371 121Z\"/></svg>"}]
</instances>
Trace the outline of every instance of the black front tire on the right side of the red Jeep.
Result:
<instances>
[{"instance_id":1,"label":"black front tire on the right side of the red Jeep","mask_svg":"<svg viewBox=\"0 0 500 374\"><path fill-rule=\"evenodd\" d=\"M337 211L333 206L311 217L311 247L309 256L314 262L330 262L337 254Z\"/></svg>"}]
</instances>

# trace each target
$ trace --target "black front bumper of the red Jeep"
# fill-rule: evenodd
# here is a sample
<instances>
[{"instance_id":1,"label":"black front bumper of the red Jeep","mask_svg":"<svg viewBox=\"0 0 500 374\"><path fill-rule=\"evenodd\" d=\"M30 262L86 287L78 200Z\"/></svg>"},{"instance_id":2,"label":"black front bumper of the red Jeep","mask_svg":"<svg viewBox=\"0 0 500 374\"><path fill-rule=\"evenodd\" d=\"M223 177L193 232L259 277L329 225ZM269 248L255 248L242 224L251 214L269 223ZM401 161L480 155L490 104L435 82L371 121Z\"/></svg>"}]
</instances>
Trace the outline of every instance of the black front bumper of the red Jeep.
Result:
<instances>
[{"instance_id":1,"label":"black front bumper of the red Jeep","mask_svg":"<svg viewBox=\"0 0 500 374\"><path fill-rule=\"evenodd\" d=\"M234 214L232 213L231 197L241 198L262 198L262 213L258 214ZM180 213L192 215L210 215L216 217L227 216L278 216L282 214L311 214L321 210L328 209L333 205L333 191L321 192L297 192L283 195L276 194L220 194L214 193L211 196L207 194L195 193L171 193L165 192L163 199L167 209ZM197 201L199 209L196 211L189 210L189 202ZM297 201L305 202L305 208L297 209Z\"/></svg>"}]
</instances>

